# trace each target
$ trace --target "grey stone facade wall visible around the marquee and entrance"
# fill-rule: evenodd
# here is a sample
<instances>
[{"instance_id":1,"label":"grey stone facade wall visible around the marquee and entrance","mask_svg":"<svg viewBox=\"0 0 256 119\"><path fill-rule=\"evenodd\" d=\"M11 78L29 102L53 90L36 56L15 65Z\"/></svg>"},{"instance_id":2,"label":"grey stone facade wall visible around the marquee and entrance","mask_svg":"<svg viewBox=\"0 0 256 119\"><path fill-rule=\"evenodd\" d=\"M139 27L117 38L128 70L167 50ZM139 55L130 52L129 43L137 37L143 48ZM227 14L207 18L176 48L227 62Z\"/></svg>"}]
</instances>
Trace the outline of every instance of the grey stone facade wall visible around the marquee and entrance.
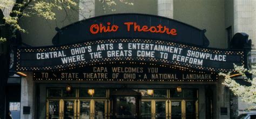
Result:
<instances>
[{"instance_id":1,"label":"grey stone facade wall visible around the marquee and entrance","mask_svg":"<svg viewBox=\"0 0 256 119\"><path fill-rule=\"evenodd\" d=\"M72 22L76 22L76 20L83 20L86 18L95 17L98 15L105 15L108 13L98 12L100 6L97 6L98 1L94 0L81 0L79 1L79 15L77 18L73 19ZM231 12L225 12L226 10L226 3L224 1L203 1L199 0L197 3L192 2L193 4L186 4L188 0L180 1L180 0L156 0L150 1L150 4L153 5L156 10L152 10L153 15L159 15L163 17L173 18L176 20L180 20L181 22L185 22L187 24L191 24L195 27L199 27L199 29L207 29L206 37L209 37L210 44L212 47L219 47L219 48L227 48L227 39L225 37L225 28L226 26L232 26L234 28L233 33L237 32L246 32L249 34L250 39L253 39L253 43L255 43L255 27L256 27L256 1L248 0L248 1L241 1L241 0L234 0L233 2L233 16L234 19L228 19L233 22L226 22L226 16L231 15ZM155 4L156 3L156 4ZM199 4L200 3L200 4ZM146 4L146 3L145 3ZM186 4L186 5L185 5ZM226 4L226 5L225 5ZM148 6L142 5L142 8L147 9ZM175 6L177 5L177 6ZM230 5L230 4L228 4ZM198 8L200 6L201 8ZM212 6L212 8L208 8L208 6ZM117 6L118 7L118 6ZM132 7L132 6L131 6ZM175 8L176 7L176 8ZM196 10L195 12L188 12L186 11L186 7L190 7L187 10ZM81 9L82 8L82 9ZM118 11L120 10L120 11ZM130 10L130 11L129 11ZM135 11L134 9L129 9L127 12L136 12L136 13L148 13L149 11ZM218 11L216 11L218 10ZM154 13L153 11L157 11ZM122 8L117 8L117 12L123 12ZM215 18L215 19L214 19ZM31 20L31 19L30 19ZM26 28L28 27L30 34L22 34L24 38L24 43L32 45L32 46L44 46L44 45L51 45L51 38L56 34L53 26L55 24L50 23L48 26L42 26L42 20L36 18L35 21L30 22L30 20L23 20L23 26ZM45 22L45 21L44 21ZM41 23L41 24L39 24ZM59 23L59 22L58 22ZM33 27L31 27L31 24ZM45 24L45 23L43 23ZM71 23L66 22L65 25ZM38 28L42 29L38 29ZM38 31L37 31L38 30ZM35 35L31 35L35 34ZM46 36L46 34L48 36ZM233 35L233 34L232 34ZM32 40L35 39L35 40ZM42 39L45 41L42 43ZM255 40L255 41L254 41ZM21 82L21 112L23 112L23 106L29 106L31 108L30 115L24 115L21 113L21 118L35 118L35 82L32 80L32 73L27 73L28 76L26 78L22 78ZM213 118L230 118L230 92L227 88L225 88L221 83L223 79L219 79L219 82L210 83L212 85L213 90ZM40 99L39 103L41 105L45 105L45 90L48 86L47 83L44 83L41 87L41 95L43 95L44 99ZM49 86L56 86L62 87L65 84L57 84L52 83ZM77 84L76 84L77 85ZM205 112L206 109L206 88L205 85L209 85L208 83L186 83L181 82L178 85L194 88L193 86L199 87L199 118L206 118L207 114ZM200 86L199 86L200 85ZM77 85L79 86L79 85ZM134 86L136 88L136 86ZM173 88L175 88L173 86ZM39 107L40 109L45 109L46 107ZM220 109L227 108L227 115L220 115ZM45 110L40 111L41 115L40 118L45 118Z\"/></svg>"}]
</instances>

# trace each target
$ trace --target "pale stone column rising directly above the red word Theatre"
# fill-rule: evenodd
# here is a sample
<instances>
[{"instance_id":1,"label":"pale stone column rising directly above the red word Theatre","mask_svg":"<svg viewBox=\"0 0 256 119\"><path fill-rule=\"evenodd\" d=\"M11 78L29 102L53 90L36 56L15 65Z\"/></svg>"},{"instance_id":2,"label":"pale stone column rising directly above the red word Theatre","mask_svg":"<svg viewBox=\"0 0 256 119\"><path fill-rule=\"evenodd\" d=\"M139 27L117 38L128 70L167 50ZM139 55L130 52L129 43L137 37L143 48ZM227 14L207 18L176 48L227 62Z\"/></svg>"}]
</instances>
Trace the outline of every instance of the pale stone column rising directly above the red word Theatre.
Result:
<instances>
[{"instance_id":1,"label":"pale stone column rising directly above the red word Theatre","mask_svg":"<svg viewBox=\"0 0 256 119\"><path fill-rule=\"evenodd\" d=\"M173 18L173 0L158 0L158 16Z\"/></svg>"}]
</instances>

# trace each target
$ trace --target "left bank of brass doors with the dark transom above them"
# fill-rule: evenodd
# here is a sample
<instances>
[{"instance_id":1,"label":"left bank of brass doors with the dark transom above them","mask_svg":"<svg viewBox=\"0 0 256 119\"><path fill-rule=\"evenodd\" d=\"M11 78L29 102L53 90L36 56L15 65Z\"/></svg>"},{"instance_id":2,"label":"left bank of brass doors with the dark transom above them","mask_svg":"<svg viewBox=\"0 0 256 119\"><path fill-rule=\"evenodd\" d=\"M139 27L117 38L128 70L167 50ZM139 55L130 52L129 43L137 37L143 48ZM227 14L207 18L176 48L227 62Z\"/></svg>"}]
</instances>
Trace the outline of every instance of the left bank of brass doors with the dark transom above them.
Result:
<instances>
[{"instance_id":1,"label":"left bank of brass doors with the dark transom above them","mask_svg":"<svg viewBox=\"0 0 256 119\"><path fill-rule=\"evenodd\" d=\"M48 89L47 95L46 119L103 119L110 117L107 89L82 88L73 89L69 93L65 89Z\"/></svg>"}]
</instances>

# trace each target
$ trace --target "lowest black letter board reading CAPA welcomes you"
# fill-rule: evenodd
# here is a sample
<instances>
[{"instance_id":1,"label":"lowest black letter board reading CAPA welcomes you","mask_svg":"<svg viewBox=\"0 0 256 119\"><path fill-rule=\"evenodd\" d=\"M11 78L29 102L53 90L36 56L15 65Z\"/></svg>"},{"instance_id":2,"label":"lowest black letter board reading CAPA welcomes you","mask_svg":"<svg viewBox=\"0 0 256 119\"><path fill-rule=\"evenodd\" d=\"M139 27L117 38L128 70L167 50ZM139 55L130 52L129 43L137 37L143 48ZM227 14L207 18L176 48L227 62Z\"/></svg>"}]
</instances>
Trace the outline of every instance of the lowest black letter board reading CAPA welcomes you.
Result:
<instances>
[{"instance_id":1,"label":"lowest black letter board reading CAPA welcomes you","mask_svg":"<svg viewBox=\"0 0 256 119\"><path fill-rule=\"evenodd\" d=\"M178 69L179 70L179 69ZM58 81L218 81L218 74L174 70L168 66L97 65L72 72L34 72L34 80Z\"/></svg>"}]
</instances>

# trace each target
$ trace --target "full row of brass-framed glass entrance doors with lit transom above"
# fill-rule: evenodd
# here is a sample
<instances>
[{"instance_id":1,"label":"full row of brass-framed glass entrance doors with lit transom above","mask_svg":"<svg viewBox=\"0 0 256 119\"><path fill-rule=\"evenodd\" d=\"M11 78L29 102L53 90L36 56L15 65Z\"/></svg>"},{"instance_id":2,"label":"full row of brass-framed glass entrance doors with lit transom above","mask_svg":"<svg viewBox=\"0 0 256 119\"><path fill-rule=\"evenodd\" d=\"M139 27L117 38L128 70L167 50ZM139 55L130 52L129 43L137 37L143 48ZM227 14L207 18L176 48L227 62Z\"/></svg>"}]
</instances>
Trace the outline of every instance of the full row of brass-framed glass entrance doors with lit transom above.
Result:
<instances>
[{"instance_id":1,"label":"full row of brass-framed glass entrance doors with lit transom above","mask_svg":"<svg viewBox=\"0 0 256 119\"><path fill-rule=\"evenodd\" d=\"M198 89L47 89L47 119L198 119Z\"/></svg>"}]
</instances>

